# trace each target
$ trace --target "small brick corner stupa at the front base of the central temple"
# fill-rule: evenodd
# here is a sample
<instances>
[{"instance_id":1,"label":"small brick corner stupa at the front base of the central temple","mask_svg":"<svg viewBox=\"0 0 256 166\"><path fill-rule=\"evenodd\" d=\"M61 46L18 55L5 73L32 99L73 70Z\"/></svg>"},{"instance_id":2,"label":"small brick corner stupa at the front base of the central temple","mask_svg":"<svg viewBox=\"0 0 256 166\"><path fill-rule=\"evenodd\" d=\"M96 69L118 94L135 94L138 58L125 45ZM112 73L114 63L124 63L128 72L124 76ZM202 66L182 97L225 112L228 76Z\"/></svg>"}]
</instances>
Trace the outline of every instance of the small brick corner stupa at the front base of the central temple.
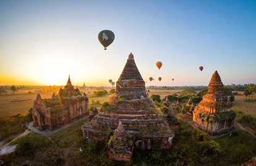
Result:
<instances>
[{"instance_id":1,"label":"small brick corner stupa at the front base of the central temple","mask_svg":"<svg viewBox=\"0 0 256 166\"><path fill-rule=\"evenodd\" d=\"M107 151L109 152L109 159L112 160L128 162L133 156L133 140L123 128L121 121L119 121L114 135L109 139Z\"/></svg>"}]
</instances>

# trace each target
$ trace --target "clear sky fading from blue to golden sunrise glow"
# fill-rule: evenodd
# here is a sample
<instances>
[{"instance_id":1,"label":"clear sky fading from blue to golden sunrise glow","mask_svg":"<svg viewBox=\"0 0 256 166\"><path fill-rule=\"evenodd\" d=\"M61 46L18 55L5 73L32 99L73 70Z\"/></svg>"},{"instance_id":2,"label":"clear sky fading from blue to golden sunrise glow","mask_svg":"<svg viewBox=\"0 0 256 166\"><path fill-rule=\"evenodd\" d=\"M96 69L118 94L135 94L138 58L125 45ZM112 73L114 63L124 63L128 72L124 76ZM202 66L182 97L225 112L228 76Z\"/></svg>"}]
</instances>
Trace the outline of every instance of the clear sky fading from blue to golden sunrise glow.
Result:
<instances>
[{"instance_id":1,"label":"clear sky fading from blue to golden sunrise glow","mask_svg":"<svg viewBox=\"0 0 256 166\"><path fill-rule=\"evenodd\" d=\"M0 85L110 86L131 52L146 85L256 83L256 1L0 1Z\"/></svg>"}]
</instances>

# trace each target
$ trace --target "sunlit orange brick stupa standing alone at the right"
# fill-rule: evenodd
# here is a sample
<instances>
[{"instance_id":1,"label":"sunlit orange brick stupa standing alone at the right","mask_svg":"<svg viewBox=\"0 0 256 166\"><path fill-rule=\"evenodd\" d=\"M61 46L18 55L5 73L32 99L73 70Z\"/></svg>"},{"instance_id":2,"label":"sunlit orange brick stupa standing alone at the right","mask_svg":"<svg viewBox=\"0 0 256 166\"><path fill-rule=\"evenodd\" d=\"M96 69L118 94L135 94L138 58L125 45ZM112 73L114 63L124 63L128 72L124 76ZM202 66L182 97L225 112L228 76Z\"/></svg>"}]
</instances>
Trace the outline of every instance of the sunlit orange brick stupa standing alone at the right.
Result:
<instances>
[{"instance_id":1,"label":"sunlit orange brick stupa standing alone at the right","mask_svg":"<svg viewBox=\"0 0 256 166\"><path fill-rule=\"evenodd\" d=\"M220 75L213 73L209 89L202 101L194 109L193 122L210 135L218 135L233 130L236 113L231 110Z\"/></svg>"}]
</instances>

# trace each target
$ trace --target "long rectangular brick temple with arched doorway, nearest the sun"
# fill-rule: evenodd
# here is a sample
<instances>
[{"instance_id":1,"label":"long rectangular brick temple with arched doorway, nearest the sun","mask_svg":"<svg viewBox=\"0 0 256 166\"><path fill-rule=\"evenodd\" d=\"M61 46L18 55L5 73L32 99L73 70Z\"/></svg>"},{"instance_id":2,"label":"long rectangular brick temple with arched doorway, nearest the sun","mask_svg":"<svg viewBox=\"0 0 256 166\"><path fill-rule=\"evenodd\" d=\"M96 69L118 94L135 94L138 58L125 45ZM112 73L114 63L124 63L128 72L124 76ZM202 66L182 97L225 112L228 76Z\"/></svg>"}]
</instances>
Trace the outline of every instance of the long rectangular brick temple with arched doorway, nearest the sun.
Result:
<instances>
[{"instance_id":1,"label":"long rectangular brick temple with arched doorway, nearest the sun","mask_svg":"<svg viewBox=\"0 0 256 166\"><path fill-rule=\"evenodd\" d=\"M33 104L33 125L40 130L53 129L89 113L88 98L74 89L68 77L67 85L57 95L42 100L38 93Z\"/></svg>"}]
</instances>

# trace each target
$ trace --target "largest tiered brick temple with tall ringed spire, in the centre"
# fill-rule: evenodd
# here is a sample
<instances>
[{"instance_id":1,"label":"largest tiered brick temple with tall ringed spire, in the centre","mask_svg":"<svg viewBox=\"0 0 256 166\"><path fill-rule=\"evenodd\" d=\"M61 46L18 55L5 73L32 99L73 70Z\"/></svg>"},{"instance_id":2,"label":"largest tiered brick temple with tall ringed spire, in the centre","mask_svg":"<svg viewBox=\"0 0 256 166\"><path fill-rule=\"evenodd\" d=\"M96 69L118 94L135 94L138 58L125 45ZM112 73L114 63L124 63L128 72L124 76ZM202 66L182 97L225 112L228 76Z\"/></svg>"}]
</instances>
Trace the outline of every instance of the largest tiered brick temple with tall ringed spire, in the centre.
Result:
<instances>
[{"instance_id":1,"label":"largest tiered brick temple with tall ringed spire, in the centre","mask_svg":"<svg viewBox=\"0 0 256 166\"><path fill-rule=\"evenodd\" d=\"M134 148L171 148L174 134L147 96L145 82L132 53L117 81L116 92L109 97L107 103L102 105L100 113L94 116L91 122L81 127L83 138L107 145L110 141L110 135L107 135L107 132L113 134L120 125L119 121L122 121L126 133L131 135ZM122 156L119 157L122 158ZM122 159L115 158L115 160Z\"/></svg>"}]
</instances>

